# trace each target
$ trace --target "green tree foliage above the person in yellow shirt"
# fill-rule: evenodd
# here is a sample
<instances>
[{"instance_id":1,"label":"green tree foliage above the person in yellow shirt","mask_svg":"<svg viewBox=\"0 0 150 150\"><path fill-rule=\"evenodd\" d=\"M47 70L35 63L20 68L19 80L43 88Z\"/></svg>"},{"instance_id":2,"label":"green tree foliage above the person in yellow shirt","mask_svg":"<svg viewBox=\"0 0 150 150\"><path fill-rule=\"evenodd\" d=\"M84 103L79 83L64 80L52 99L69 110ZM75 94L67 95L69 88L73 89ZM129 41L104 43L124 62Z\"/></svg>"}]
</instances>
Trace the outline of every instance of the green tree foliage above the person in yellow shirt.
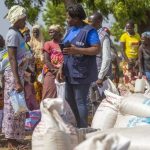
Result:
<instances>
[{"instance_id":1,"label":"green tree foliage above the person in yellow shirt","mask_svg":"<svg viewBox=\"0 0 150 150\"><path fill-rule=\"evenodd\" d=\"M137 24L139 33L150 30L150 0L95 0L96 9L104 16L113 14L116 22L112 25L112 33L119 39L129 19Z\"/></svg>"}]
</instances>

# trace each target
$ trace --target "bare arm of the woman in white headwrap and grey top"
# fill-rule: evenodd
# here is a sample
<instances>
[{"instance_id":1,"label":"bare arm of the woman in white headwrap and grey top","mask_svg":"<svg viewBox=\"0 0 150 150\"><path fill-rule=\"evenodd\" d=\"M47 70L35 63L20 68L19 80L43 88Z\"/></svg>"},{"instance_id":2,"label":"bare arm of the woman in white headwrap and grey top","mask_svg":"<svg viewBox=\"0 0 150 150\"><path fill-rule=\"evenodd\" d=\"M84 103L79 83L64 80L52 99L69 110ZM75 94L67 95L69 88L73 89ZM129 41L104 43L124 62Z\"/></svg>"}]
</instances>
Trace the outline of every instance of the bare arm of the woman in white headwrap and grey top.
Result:
<instances>
[{"instance_id":1,"label":"bare arm of the woman in white headwrap and grey top","mask_svg":"<svg viewBox=\"0 0 150 150\"><path fill-rule=\"evenodd\" d=\"M10 62L13 76L15 78L16 90L18 92L21 92L23 90L23 87L21 85L21 81L20 81L19 74L18 74L18 63L16 59L16 54L17 54L16 47L8 47L9 62Z\"/></svg>"}]
</instances>

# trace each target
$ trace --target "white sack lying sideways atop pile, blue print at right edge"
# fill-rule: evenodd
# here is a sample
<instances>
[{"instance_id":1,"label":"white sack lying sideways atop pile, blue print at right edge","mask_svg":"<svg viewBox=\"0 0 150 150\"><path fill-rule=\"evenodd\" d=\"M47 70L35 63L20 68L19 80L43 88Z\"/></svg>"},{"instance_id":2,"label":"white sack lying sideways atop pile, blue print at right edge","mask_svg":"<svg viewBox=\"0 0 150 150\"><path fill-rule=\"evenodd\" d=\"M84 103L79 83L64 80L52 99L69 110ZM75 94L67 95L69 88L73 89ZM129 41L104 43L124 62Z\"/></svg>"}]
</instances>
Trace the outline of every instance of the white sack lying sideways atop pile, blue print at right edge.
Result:
<instances>
[{"instance_id":1,"label":"white sack lying sideways atop pile, blue print at right edge","mask_svg":"<svg viewBox=\"0 0 150 150\"><path fill-rule=\"evenodd\" d=\"M150 98L143 94L132 94L125 97L121 101L120 112L139 117L150 117Z\"/></svg>"}]
</instances>

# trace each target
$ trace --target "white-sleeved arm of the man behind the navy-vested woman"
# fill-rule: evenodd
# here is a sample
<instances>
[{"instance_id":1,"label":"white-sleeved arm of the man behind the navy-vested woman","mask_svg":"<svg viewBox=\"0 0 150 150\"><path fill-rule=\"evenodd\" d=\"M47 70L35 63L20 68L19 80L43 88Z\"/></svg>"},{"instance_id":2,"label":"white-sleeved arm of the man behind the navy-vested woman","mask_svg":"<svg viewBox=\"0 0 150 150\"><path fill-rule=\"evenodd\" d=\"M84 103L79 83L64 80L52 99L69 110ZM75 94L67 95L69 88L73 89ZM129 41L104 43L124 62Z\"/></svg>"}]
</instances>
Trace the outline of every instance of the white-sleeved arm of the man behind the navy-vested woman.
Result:
<instances>
[{"instance_id":1,"label":"white-sleeved arm of the man behind the navy-vested woman","mask_svg":"<svg viewBox=\"0 0 150 150\"><path fill-rule=\"evenodd\" d=\"M105 38L103 41L103 48L102 48L102 65L101 69L98 74L98 79L103 80L106 76L111 63L111 47L110 47L110 40Z\"/></svg>"}]
</instances>

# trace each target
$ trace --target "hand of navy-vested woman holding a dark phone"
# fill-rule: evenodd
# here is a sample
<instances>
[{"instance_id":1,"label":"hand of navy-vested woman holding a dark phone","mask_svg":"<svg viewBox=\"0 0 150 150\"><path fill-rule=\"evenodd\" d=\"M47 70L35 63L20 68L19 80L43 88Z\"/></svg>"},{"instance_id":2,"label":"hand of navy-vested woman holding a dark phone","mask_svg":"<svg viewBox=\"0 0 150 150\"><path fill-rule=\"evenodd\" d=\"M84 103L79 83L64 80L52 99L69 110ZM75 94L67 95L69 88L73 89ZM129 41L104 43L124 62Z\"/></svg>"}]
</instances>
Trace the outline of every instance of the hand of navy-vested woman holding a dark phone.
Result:
<instances>
[{"instance_id":1,"label":"hand of navy-vested woman holding a dark phone","mask_svg":"<svg viewBox=\"0 0 150 150\"><path fill-rule=\"evenodd\" d=\"M79 50L77 49L76 46L71 45L71 47L66 47L66 48L63 49L63 54L78 55L79 54Z\"/></svg>"}]
</instances>

